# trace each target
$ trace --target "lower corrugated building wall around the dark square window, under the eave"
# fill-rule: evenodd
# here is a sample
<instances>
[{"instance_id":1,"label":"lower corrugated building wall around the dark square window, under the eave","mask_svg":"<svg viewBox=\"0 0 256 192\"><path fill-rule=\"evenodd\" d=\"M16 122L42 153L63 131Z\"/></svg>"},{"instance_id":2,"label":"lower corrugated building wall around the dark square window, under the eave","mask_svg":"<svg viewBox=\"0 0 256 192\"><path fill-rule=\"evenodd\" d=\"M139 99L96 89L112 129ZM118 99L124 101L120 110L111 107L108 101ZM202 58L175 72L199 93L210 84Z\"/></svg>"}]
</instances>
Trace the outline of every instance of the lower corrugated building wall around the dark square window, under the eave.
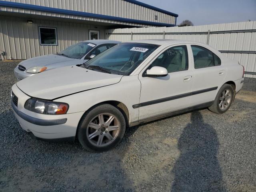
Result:
<instances>
[{"instance_id":1,"label":"lower corrugated building wall around the dark square window, under the eave","mask_svg":"<svg viewBox=\"0 0 256 192\"><path fill-rule=\"evenodd\" d=\"M40 46L38 26L57 28L58 46ZM1 16L0 50L6 59L27 59L36 56L60 52L64 48L88 40L88 30L100 30L100 38L105 39L104 28L82 23Z\"/></svg>"}]
</instances>

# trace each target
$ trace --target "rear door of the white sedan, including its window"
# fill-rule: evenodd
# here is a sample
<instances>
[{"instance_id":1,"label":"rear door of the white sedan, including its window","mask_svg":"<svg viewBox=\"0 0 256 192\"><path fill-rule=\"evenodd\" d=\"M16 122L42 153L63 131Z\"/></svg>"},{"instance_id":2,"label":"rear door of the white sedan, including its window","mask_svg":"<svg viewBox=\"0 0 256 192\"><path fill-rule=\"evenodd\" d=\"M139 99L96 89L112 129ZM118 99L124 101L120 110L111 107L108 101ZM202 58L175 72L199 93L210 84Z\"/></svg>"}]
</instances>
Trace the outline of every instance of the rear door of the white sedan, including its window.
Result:
<instances>
[{"instance_id":1,"label":"rear door of the white sedan, including its window","mask_svg":"<svg viewBox=\"0 0 256 192\"><path fill-rule=\"evenodd\" d=\"M191 44L193 54L193 86L191 106L211 102L223 84L226 68L220 58L204 46Z\"/></svg>"}]
</instances>

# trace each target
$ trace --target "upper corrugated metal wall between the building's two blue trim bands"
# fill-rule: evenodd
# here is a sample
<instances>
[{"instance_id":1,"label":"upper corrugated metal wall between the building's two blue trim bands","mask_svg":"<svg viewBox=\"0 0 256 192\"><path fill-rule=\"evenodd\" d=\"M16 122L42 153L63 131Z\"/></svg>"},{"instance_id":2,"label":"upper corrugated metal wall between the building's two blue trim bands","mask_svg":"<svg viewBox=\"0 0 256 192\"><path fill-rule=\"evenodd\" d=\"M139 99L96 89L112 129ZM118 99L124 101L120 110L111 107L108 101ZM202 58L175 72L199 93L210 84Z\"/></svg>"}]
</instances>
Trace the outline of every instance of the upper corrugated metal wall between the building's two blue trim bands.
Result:
<instances>
[{"instance_id":1,"label":"upper corrugated metal wall between the building's two blue trim bands","mask_svg":"<svg viewBox=\"0 0 256 192\"><path fill-rule=\"evenodd\" d=\"M125 0L6 0L136 20L175 24L175 17ZM158 20L154 16L158 15ZM138 25L137 25L138 26Z\"/></svg>"}]
</instances>

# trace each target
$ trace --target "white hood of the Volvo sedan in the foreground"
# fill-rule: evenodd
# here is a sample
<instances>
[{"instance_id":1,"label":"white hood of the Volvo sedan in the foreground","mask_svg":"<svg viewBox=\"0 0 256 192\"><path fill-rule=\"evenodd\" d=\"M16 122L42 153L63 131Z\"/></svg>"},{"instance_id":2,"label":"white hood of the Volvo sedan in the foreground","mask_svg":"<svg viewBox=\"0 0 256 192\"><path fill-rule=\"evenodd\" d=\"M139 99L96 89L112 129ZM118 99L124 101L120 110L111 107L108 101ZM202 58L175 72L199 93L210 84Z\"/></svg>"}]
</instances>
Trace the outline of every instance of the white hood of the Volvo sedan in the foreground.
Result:
<instances>
[{"instance_id":1,"label":"white hood of the Volvo sedan in the foreground","mask_svg":"<svg viewBox=\"0 0 256 192\"><path fill-rule=\"evenodd\" d=\"M116 84L121 78L122 75L67 66L30 76L16 85L31 97L54 100L76 92Z\"/></svg>"}]
</instances>

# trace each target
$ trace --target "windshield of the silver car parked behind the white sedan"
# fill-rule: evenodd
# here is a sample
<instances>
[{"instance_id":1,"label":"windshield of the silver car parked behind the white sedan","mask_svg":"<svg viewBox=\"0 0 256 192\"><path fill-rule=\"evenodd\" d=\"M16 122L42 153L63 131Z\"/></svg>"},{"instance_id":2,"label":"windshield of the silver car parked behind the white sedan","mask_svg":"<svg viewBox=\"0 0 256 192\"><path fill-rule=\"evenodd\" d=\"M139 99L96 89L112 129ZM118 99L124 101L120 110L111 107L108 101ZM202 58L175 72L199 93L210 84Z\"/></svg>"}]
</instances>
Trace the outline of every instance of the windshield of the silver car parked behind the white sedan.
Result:
<instances>
[{"instance_id":1,"label":"windshield of the silver car parked behind the white sedan","mask_svg":"<svg viewBox=\"0 0 256 192\"><path fill-rule=\"evenodd\" d=\"M96 44L90 42L80 42L64 49L57 55L66 56L73 59L81 59L95 46Z\"/></svg>"}]
</instances>

